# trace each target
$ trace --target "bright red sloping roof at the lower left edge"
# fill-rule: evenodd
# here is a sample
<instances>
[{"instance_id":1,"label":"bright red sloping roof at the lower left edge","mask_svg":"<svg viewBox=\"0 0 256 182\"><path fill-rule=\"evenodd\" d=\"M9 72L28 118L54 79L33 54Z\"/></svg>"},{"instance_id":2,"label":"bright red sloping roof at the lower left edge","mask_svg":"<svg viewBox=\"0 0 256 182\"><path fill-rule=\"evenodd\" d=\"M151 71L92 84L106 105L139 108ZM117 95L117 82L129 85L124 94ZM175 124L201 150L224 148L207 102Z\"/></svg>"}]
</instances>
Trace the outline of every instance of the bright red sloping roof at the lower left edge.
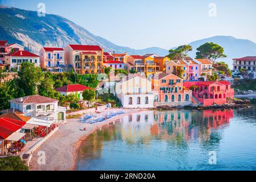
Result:
<instances>
[{"instance_id":1,"label":"bright red sloping roof at the lower left edge","mask_svg":"<svg viewBox=\"0 0 256 182\"><path fill-rule=\"evenodd\" d=\"M6 139L15 131L19 130L24 126L26 122L18 121L10 118L0 118L0 137Z\"/></svg>"}]
</instances>

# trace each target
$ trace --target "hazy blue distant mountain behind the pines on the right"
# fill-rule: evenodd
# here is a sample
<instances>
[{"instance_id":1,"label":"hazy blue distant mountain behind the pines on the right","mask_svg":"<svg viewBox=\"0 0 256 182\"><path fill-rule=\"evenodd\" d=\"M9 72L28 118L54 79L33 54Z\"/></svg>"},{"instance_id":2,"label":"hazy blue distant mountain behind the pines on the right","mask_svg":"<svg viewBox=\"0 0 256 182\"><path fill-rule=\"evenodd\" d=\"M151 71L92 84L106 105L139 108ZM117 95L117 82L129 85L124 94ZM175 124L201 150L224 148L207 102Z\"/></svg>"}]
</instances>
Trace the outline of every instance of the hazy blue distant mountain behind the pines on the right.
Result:
<instances>
[{"instance_id":1,"label":"hazy blue distant mountain behind the pines on the right","mask_svg":"<svg viewBox=\"0 0 256 182\"><path fill-rule=\"evenodd\" d=\"M193 51L189 52L189 56L196 57L196 49L206 42L213 42L224 48L224 54L227 57L218 61L225 61L230 67L234 58L256 56L256 43L247 39L236 39L233 36L213 36L212 38L189 43L193 47Z\"/></svg>"}]
</instances>

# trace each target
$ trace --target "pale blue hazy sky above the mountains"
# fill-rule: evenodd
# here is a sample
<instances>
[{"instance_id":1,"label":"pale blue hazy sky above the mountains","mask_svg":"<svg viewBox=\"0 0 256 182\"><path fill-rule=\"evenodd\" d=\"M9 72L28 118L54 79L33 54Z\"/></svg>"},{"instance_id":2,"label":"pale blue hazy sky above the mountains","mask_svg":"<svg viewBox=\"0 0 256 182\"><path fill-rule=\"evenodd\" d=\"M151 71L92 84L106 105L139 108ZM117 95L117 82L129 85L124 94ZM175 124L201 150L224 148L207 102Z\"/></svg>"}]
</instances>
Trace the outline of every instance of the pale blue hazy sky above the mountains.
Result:
<instances>
[{"instance_id":1,"label":"pale blue hazy sky above the mountains","mask_svg":"<svg viewBox=\"0 0 256 182\"><path fill-rule=\"evenodd\" d=\"M256 42L255 0L1 1L26 10L36 10L42 2L47 14L64 16L92 34L137 49L170 48L216 35ZM215 3L216 14L210 3Z\"/></svg>"}]
</instances>

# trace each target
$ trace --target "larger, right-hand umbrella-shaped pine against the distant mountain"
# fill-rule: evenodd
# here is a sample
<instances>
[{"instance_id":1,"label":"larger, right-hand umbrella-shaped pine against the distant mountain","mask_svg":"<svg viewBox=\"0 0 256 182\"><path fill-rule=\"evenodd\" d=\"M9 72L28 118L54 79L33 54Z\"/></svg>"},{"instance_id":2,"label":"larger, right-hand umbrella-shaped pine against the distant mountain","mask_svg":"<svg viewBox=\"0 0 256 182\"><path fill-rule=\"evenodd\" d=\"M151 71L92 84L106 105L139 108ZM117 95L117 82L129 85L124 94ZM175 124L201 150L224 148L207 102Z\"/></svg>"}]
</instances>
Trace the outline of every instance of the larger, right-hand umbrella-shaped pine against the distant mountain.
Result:
<instances>
[{"instance_id":1,"label":"larger, right-hand umbrella-shaped pine against the distant mountain","mask_svg":"<svg viewBox=\"0 0 256 182\"><path fill-rule=\"evenodd\" d=\"M224 55L224 48L213 42L206 42L205 44L198 47L197 51L196 59L205 58L213 61L213 63L216 61L216 59L227 57Z\"/></svg>"}]
</instances>

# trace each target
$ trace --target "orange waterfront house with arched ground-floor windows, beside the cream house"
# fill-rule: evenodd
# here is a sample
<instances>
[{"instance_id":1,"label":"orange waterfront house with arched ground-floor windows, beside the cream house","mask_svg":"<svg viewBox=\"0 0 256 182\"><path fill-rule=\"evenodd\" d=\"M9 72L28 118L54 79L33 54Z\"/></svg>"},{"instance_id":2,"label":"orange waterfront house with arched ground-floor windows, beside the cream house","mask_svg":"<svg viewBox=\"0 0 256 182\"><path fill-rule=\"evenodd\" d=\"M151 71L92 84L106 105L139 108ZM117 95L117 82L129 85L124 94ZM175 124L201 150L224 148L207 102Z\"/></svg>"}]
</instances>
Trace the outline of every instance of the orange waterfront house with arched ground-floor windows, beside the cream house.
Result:
<instances>
[{"instance_id":1,"label":"orange waterfront house with arched ground-floor windows, beside the cream house","mask_svg":"<svg viewBox=\"0 0 256 182\"><path fill-rule=\"evenodd\" d=\"M155 105L159 102L190 102L192 91L183 88L183 80L172 73L159 73L152 77Z\"/></svg>"}]
</instances>

